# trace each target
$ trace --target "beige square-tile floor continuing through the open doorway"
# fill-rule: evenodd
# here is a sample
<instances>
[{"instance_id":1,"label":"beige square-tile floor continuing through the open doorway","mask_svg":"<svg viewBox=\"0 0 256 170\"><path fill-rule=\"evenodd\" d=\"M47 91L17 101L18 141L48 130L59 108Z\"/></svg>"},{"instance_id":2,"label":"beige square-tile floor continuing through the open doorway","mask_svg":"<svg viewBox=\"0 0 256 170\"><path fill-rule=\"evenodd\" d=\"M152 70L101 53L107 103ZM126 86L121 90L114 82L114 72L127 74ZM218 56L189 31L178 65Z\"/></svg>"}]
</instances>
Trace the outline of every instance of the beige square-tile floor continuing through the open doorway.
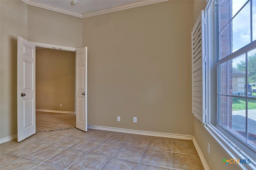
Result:
<instances>
[{"instance_id":1,"label":"beige square-tile floor continuing through the open doorway","mask_svg":"<svg viewBox=\"0 0 256 170\"><path fill-rule=\"evenodd\" d=\"M44 117L44 113L37 116ZM58 115L58 114L57 114ZM48 117L46 116L46 117ZM56 116L56 115L55 115ZM60 116L60 115L59 115ZM64 114L67 116L67 114ZM66 118L67 118L66 117ZM52 121L50 116L47 119ZM58 117L57 119L65 119ZM57 121L54 118L54 120ZM74 118L67 118L70 120ZM44 121L47 121L44 119ZM38 122L38 119L37 119ZM200 170L204 169L192 140L41 124L22 142L0 144L1 170ZM43 122L41 122L43 123ZM58 125L60 125L58 124ZM37 131L38 128L37 127ZM53 130L70 128L65 130ZM53 130L53 131L51 131Z\"/></svg>"}]
</instances>

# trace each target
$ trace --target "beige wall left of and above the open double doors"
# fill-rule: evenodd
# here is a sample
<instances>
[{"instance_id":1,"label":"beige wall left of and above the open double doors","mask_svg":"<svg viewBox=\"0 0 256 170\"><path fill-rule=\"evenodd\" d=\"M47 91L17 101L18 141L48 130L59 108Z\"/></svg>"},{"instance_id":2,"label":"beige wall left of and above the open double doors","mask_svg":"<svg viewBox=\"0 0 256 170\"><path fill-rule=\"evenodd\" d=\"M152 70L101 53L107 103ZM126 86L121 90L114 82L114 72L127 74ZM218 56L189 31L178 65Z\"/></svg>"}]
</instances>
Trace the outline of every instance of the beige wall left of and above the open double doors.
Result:
<instances>
[{"instance_id":1,"label":"beige wall left of and above the open double doors","mask_svg":"<svg viewBox=\"0 0 256 170\"><path fill-rule=\"evenodd\" d=\"M82 19L1 0L0 138L17 134L17 36L32 42L82 47Z\"/></svg>"}]
</instances>

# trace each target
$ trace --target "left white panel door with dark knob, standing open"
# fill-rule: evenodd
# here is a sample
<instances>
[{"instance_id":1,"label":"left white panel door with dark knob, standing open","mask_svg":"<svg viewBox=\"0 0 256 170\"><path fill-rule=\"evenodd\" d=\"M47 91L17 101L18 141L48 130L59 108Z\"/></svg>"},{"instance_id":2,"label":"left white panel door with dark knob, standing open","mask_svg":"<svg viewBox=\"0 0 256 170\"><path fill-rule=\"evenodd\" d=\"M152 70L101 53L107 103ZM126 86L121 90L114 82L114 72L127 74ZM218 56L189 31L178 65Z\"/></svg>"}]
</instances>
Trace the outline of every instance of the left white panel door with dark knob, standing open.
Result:
<instances>
[{"instance_id":1,"label":"left white panel door with dark knob, standing open","mask_svg":"<svg viewBox=\"0 0 256 170\"><path fill-rule=\"evenodd\" d=\"M36 133L36 45L18 37L17 126L18 142Z\"/></svg>"}]
</instances>

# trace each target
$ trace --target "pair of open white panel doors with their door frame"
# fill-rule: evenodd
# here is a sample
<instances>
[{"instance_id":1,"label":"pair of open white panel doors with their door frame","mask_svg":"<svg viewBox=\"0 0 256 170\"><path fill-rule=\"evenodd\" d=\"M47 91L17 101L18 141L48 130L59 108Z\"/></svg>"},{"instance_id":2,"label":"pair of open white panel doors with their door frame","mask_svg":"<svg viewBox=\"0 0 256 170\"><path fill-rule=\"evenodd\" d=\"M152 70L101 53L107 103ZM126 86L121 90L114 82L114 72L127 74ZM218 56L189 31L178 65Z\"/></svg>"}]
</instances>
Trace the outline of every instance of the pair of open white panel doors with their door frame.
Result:
<instances>
[{"instance_id":1,"label":"pair of open white panel doors with their door frame","mask_svg":"<svg viewBox=\"0 0 256 170\"><path fill-rule=\"evenodd\" d=\"M76 113L76 128L87 131L87 47L76 49L73 47L48 45L44 43L29 42L22 37L18 37L17 46L18 142L36 133L36 46L65 51L76 51L76 90L73 91L75 92L76 107L74 110ZM58 63L54 66L56 65L58 65ZM68 65L66 67L70 66ZM58 88L61 88L62 85L59 85ZM64 93L64 95L66 94L65 91L62 91L62 93ZM42 96L44 95L51 95L51 93L46 91L46 93L42 94Z\"/></svg>"}]
</instances>

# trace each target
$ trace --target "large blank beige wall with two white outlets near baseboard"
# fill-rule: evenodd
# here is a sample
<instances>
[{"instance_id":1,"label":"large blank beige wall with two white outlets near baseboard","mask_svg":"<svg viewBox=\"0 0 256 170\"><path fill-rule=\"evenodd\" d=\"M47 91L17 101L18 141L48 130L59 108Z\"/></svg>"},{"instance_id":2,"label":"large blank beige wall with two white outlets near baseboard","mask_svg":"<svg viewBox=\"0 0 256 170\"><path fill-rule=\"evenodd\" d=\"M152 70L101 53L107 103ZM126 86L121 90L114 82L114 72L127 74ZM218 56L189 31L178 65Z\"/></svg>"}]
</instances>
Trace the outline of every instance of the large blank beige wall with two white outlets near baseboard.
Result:
<instances>
[{"instance_id":1,"label":"large blank beige wall with two white outlets near baseboard","mask_svg":"<svg viewBox=\"0 0 256 170\"><path fill-rule=\"evenodd\" d=\"M182 0L83 19L89 125L193 135L192 13Z\"/></svg>"}]
</instances>

